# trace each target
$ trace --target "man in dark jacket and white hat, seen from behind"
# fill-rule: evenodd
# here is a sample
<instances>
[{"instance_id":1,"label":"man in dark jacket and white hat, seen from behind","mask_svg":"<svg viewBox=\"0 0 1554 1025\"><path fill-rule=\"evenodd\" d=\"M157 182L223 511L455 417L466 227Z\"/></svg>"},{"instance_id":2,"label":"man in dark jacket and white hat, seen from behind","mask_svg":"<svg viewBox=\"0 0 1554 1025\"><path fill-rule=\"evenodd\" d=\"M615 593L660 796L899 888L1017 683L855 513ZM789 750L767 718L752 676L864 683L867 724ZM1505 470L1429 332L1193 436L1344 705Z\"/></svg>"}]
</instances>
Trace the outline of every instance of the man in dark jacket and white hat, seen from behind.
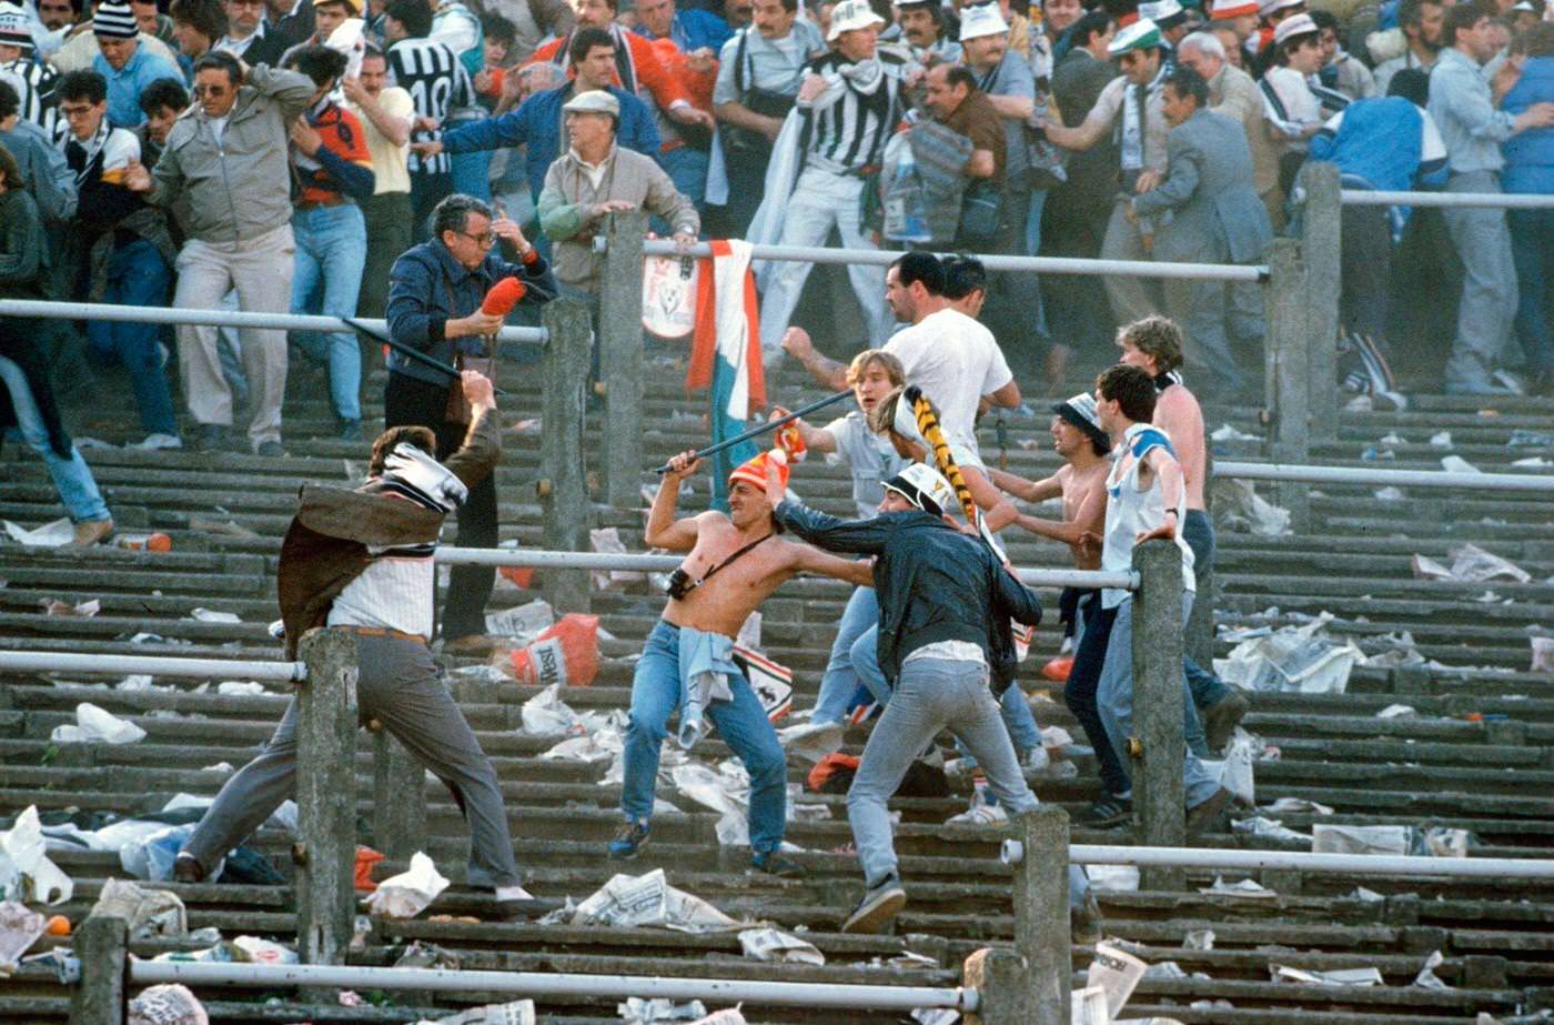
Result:
<instances>
[{"instance_id":1,"label":"man in dark jacket and white hat, seen from behind","mask_svg":"<svg viewBox=\"0 0 1554 1025\"><path fill-rule=\"evenodd\" d=\"M988 683L999 691L1013 683L1010 619L1037 625L1041 602L987 541L945 516L956 496L937 470L914 464L884 488L878 516L845 521L782 501L782 482L766 476L777 524L821 547L875 557L880 663L895 687L847 792L867 887L842 924L853 933L880 932L906 904L886 803L940 729L971 748L1004 809L1019 813L1038 804ZM1069 910L1077 932L1099 936L1100 913L1078 865L1069 866Z\"/></svg>"}]
</instances>

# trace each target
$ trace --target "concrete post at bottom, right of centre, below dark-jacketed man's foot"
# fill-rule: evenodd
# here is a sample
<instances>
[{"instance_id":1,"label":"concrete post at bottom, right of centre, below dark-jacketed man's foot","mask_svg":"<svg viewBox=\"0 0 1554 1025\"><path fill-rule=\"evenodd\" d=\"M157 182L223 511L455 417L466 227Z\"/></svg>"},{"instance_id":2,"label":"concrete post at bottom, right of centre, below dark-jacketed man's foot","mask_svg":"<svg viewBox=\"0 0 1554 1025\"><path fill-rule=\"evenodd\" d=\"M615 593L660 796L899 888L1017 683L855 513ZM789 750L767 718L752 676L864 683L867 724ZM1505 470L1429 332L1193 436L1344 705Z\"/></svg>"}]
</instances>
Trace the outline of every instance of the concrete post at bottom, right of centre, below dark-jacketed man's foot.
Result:
<instances>
[{"instance_id":1,"label":"concrete post at bottom, right of centre, below dark-jacketed man's foot","mask_svg":"<svg viewBox=\"0 0 1554 1025\"><path fill-rule=\"evenodd\" d=\"M1068 812L1043 804L1015 817L1015 950L1026 963L1030 1025L1068 1025L1072 961L1068 916Z\"/></svg>"}]
</instances>

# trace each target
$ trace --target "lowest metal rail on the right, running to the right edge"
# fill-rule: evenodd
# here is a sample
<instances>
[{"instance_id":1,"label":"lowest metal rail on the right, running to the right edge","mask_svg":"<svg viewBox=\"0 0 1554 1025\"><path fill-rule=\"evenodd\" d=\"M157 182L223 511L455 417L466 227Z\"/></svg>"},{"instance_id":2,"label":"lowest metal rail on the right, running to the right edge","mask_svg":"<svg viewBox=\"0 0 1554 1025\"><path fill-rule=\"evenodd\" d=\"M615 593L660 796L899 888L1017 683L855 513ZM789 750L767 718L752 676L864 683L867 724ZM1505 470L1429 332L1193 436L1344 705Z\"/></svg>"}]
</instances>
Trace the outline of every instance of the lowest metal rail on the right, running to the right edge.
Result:
<instances>
[{"instance_id":1,"label":"lowest metal rail on the right, running to the right edge","mask_svg":"<svg viewBox=\"0 0 1554 1025\"><path fill-rule=\"evenodd\" d=\"M1170 868L1282 868L1350 876L1450 876L1456 879L1554 879L1554 860L1509 857L1403 857L1391 854L1310 854L1304 851L1242 851L1225 848L1130 848L1075 843L1069 859L1080 865L1156 865Z\"/></svg>"}]
</instances>

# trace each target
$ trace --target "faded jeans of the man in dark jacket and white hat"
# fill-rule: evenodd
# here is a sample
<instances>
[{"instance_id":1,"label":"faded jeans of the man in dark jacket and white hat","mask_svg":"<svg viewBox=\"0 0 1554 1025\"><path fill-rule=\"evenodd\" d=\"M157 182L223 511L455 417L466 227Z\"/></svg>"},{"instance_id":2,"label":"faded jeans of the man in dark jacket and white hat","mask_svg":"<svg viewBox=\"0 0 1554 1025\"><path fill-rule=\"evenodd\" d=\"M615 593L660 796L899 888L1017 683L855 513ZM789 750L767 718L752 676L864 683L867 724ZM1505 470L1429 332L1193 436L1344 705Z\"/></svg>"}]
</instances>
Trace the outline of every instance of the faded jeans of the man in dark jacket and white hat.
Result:
<instances>
[{"instance_id":1,"label":"faded jeans of the man in dark jacket and white hat","mask_svg":"<svg viewBox=\"0 0 1554 1025\"><path fill-rule=\"evenodd\" d=\"M1004 810L1018 815L1040 807L1019 771L987 681L987 666L981 663L918 658L901 666L890 705L869 734L858 775L847 790L847 820L869 887L897 874L886 804L912 759L940 729L948 728L971 750ZM1069 907L1083 904L1088 888L1085 869L1069 865Z\"/></svg>"}]
</instances>

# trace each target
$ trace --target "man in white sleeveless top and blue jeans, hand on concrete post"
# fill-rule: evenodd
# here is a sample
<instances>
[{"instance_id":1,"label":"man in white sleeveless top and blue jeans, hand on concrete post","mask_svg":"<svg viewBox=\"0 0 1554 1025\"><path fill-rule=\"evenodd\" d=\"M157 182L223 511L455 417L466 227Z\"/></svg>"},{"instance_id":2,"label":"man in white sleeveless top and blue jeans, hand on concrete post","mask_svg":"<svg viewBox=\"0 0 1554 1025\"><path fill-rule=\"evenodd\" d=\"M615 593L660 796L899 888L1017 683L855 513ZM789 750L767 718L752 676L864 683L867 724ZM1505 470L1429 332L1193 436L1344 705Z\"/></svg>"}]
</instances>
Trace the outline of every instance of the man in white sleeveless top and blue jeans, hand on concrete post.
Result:
<instances>
[{"instance_id":1,"label":"man in white sleeveless top and blue jeans, hand on concrete post","mask_svg":"<svg viewBox=\"0 0 1554 1025\"><path fill-rule=\"evenodd\" d=\"M1106 533L1100 551L1102 572L1133 566L1133 547L1155 538L1176 544L1183 565L1183 622L1192 611L1195 591L1192 549L1183 540L1181 519L1187 488L1170 439L1150 425L1155 414L1155 380L1128 364L1110 367L1096 381L1096 417L1119 451L1106 474ZM1133 593L1105 588L1100 614L1085 625L1069 686L1096 675L1096 705L1114 751L1128 750L1133 734ZM1183 677L1184 723L1192 715L1192 695ZM1187 829L1201 832L1231 801L1231 792L1209 775L1183 739L1183 782L1187 792ZM1122 767L1125 773L1127 768ZM1114 795L1122 798L1124 795Z\"/></svg>"}]
</instances>

